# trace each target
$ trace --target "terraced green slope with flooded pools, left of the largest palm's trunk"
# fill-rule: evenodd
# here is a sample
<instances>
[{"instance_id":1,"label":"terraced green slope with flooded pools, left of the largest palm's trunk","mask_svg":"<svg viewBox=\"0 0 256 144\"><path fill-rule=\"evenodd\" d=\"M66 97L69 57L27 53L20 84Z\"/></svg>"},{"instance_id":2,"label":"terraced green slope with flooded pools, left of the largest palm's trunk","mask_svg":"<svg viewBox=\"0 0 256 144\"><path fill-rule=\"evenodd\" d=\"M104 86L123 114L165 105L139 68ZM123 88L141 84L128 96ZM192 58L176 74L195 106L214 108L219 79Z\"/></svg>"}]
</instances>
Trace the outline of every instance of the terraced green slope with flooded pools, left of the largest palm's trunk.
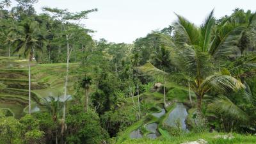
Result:
<instances>
[{"instance_id":1,"label":"terraced green slope with flooded pools, left of the largest palm's trunk","mask_svg":"<svg viewBox=\"0 0 256 144\"><path fill-rule=\"evenodd\" d=\"M195 120L193 120L195 108L189 102L188 88L168 83L166 90L168 91L166 93L168 104L166 108L163 106L163 93L146 92L140 95L141 103L148 104L148 113L144 118L126 129L119 137L118 143L124 143L131 139L150 138L152 140L164 136L168 137L175 132L186 133L195 126ZM191 97L195 102L194 93L191 93ZM137 99L138 97L134 97L134 100ZM132 105L131 97L127 103Z\"/></svg>"}]
</instances>

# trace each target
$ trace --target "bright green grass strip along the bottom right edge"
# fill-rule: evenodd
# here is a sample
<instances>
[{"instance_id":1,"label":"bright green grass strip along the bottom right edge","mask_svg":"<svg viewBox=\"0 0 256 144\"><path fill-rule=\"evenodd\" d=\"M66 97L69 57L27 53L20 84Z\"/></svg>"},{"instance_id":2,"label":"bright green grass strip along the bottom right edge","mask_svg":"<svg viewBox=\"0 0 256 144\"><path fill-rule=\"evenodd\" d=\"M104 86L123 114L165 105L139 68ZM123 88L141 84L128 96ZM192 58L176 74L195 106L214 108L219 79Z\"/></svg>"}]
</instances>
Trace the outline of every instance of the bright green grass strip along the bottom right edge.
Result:
<instances>
[{"instance_id":1,"label":"bright green grass strip along the bottom right edge","mask_svg":"<svg viewBox=\"0 0 256 144\"><path fill-rule=\"evenodd\" d=\"M157 138L156 140L150 140L148 138L142 138L137 140L125 140L122 144L180 144L185 143L187 141L196 141L199 139L204 139L208 142L208 144L255 144L256 143L256 136L253 135L241 135L232 133L234 138L232 139L223 139L223 138L216 138L216 136L224 135L223 133L202 133L202 134L194 134L188 133L184 134L183 136L176 136L172 137L168 140L164 138Z\"/></svg>"}]
</instances>

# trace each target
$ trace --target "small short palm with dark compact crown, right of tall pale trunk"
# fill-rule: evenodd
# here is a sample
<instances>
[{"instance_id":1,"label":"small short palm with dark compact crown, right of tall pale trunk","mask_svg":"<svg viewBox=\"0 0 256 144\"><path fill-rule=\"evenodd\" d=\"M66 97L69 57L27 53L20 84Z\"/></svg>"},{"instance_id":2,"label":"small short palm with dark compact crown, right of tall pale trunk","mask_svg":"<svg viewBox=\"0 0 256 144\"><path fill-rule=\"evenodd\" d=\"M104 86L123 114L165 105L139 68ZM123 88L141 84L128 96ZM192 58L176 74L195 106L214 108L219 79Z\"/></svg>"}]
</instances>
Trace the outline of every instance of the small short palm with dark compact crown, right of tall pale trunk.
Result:
<instances>
[{"instance_id":1,"label":"small short palm with dark compact crown, right of tall pale trunk","mask_svg":"<svg viewBox=\"0 0 256 144\"><path fill-rule=\"evenodd\" d=\"M84 88L84 94L85 94L85 111L89 111L89 95L88 95L88 91L90 89L90 85L92 84L92 78L91 77L83 77L82 81L81 81L81 87Z\"/></svg>"}]
</instances>

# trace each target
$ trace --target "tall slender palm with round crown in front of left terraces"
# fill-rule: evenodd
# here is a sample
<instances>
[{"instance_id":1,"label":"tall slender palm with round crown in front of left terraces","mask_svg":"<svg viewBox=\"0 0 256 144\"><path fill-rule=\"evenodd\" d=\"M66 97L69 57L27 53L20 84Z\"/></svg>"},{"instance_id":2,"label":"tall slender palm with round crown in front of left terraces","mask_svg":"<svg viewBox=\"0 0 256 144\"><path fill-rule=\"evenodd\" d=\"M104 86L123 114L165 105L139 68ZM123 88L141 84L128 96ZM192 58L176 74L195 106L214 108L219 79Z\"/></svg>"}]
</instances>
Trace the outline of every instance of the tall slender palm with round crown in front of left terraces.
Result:
<instances>
[{"instance_id":1,"label":"tall slender palm with round crown in front of left terraces","mask_svg":"<svg viewBox=\"0 0 256 144\"><path fill-rule=\"evenodd\" d=\"M28 77L29 77L29 115L31 114L31 61L34 58L35 52L42 53L45 47L45 38L40 31L38 23L33 20L26 20L22 22L17 29L18 38L15 40L20 56L28 58Z\"/></svg>"}]
</instances>

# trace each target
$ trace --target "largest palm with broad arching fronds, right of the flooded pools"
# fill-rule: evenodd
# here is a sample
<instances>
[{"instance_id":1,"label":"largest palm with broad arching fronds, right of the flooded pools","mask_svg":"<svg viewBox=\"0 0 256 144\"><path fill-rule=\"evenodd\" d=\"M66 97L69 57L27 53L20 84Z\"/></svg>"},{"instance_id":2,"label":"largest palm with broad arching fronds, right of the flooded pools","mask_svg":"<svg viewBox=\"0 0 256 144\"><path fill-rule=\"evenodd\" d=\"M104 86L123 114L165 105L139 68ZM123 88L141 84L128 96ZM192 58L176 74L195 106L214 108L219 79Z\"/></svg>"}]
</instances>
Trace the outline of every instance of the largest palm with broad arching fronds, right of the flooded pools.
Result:
<instances>
[{"instance_id":1,"label":"largest palm with broad arching fronds, right of the flooded pools","mask_svg":"<svg viewBox=\"0 0 256 144\"><path fill-rule=\"evenodd\" d=\"M179 68L179 73L168 74L151 63L140 67L140 70L148 74L170 76L168 80L178 84L189 83L196 95L198 118L202 118L202 100L207 92L210 90L227 92L244 88L240 81L220 72L220 64L217 61L220 58L228 58L234 52L231 49L235 47L232 42L237 40L239 29L231 29L227 35L216 41L215 37L218 37L216 36L218 34L212 35L216 28L213 10L200 27L180 15L177 17L173 38L166 35L160 36L164 45L170 49L172 64Z\"/></svg>"}]
</instances>

